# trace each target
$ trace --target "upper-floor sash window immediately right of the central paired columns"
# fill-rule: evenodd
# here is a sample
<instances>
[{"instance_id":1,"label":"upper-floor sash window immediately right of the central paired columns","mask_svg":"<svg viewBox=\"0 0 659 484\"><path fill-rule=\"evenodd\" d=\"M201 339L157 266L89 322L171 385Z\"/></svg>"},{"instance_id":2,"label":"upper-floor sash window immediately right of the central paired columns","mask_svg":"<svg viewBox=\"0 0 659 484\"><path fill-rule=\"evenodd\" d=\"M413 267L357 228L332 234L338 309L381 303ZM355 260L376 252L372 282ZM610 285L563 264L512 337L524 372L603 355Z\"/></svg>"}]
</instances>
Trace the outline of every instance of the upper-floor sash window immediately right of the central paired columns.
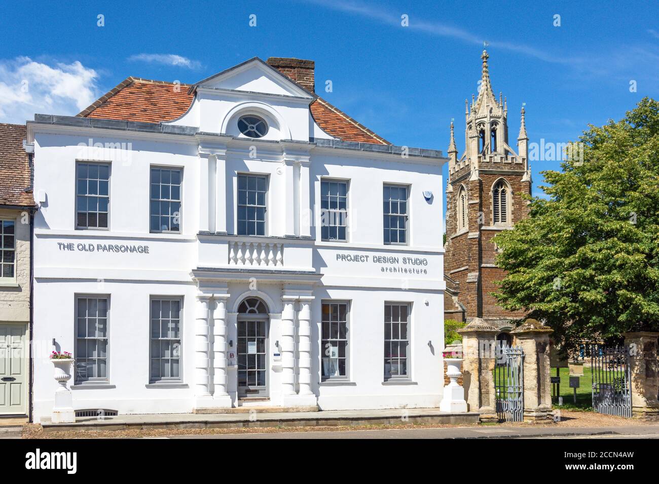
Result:
<instances>
[{"instance_id":1,"label":"upper-floor sash window immediately right of the central paired columns","mask_svg":"<svg viewBox=\"0 0 659 484\"><path fill-rule=\"evenodd\" d=\"M320 181L320 236L322 240L348 240L348 182Z\"/></svg>"}]
</instances>

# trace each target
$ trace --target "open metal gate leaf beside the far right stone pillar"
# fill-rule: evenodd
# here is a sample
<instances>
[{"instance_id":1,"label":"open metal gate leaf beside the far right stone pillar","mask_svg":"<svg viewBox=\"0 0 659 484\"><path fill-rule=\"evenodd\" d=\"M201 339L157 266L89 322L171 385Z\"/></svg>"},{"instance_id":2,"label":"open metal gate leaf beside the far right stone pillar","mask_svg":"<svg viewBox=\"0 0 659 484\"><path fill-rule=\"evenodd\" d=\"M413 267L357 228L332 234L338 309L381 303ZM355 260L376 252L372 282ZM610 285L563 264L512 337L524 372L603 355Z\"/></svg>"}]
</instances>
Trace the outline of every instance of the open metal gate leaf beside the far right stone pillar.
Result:
<instances>
[{"instance_id":1,"label":"open metal gate leaf beside the far right stone pillar","mask_svg":"<svg viewBox=\"0 0 659 484\"><path fill-rule=\"evenodd\" d=\"M590 346L592 408L600 414L631 417L631 377L624 346Z\"/></svg>"}]
</instances>

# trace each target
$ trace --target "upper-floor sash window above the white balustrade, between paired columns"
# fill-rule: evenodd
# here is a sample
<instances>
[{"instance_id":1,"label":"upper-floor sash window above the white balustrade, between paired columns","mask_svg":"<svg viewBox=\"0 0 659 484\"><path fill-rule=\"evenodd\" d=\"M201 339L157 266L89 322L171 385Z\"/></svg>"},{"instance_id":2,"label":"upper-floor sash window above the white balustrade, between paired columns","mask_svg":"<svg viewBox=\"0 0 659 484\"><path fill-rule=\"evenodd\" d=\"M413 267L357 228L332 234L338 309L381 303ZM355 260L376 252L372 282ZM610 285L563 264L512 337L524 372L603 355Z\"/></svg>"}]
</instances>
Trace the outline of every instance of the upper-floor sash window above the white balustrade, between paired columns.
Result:
<instances>
[{"instance_id":1,"label":"upper-floor sash window above the white balustrade, between paired columns","mask_svg":"<svg viewBox=\"0 0 659 484\"><path fill-rule=\"evenodd\" d=\"M238 235L266 234L268 177L238 175Z\"/></svg>"}]
</instances>

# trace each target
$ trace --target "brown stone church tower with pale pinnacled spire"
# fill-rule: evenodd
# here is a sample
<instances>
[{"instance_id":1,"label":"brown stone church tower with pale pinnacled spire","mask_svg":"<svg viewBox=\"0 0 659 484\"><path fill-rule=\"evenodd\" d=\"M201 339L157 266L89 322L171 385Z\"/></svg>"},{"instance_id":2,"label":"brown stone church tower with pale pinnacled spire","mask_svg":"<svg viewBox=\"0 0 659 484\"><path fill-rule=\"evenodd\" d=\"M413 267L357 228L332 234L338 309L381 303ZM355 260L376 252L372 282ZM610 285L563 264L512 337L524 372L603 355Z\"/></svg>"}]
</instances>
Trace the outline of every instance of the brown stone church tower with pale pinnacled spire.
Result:
<instances>
[{"instance_id":1,"label":"brown stone church tower with pale pinnacled spire","mask_svg":"<svg viewBox=\"0 0 659 484\"><path fill-rule=\"evenodd\" d=\"M465 152L458 157L451 122L449 175L446 188L446 280L445 319L471 321L481 317L505 330L510 319L521 313L505 311L490 294L505 272L496 266L497 248L492 238L526 217L527 203L522 194L531 192L527 157L529 137L525 110L517 150L508 143L508 107L492 90L488 53L480 56L482 75L478 97L471 105L465 100Z\"/></svg>"}]
</instances>

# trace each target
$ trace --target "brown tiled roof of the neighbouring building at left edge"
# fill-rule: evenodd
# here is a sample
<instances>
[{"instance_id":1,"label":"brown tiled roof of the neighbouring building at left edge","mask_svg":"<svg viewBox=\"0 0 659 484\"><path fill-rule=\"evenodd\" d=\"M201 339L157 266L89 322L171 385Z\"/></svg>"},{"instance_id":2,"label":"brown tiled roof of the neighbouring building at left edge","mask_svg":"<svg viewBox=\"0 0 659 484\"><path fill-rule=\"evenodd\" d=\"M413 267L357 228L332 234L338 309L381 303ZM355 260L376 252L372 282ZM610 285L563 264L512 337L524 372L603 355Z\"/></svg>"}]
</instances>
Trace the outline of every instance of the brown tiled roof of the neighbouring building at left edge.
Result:
<instances>
[{"instance_id":1,"label":"brown tiled roof of the neighbouring building at left edge","mask_svg":"<svg viewBox=\"0 0 659 484\"><path fill-rule=\"evenodd\" d=\"M24 124L0 123L0 205L34 207Z\"/></svg>"}]
</instances>

